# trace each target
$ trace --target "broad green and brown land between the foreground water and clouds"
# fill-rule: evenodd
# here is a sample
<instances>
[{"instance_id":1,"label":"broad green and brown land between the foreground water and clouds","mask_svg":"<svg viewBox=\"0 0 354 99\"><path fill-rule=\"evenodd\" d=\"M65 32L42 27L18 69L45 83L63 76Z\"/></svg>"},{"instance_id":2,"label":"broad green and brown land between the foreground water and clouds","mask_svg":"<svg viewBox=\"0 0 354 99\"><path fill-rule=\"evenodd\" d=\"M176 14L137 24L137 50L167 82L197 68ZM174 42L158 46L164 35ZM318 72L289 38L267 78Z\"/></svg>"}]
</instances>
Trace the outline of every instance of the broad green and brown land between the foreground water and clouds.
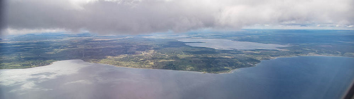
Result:
<instances>
[{"instance_id":1,"label":"broad green and brown land between the foreground water and clouds","mask_svg":"<svg viewBox=\"0 0 354 99\"><path fill-rule=\"evenodd\" d=\"M238 68L254 67L261 60L278 57L354 57L353 32L245 30L171 35L98 36L90 33L43 33L5 36L0 42L0 69L32 68L61 60L80 59L119 67L227 73ZM203 41L181 40L193 38ZM208 46L204 41L208 39L226 40L213 40L224 42L212 42L212 46ZM237 43L232 45L240 45L239 43L243 42L245 44L241 44L242 47L217 44L225 41ZM250 42L253 47L247 47L246 44ZM201 45L198 46L198 43ZM254 48L255 45L257 47Z\"/></svg>"}]
</instances>

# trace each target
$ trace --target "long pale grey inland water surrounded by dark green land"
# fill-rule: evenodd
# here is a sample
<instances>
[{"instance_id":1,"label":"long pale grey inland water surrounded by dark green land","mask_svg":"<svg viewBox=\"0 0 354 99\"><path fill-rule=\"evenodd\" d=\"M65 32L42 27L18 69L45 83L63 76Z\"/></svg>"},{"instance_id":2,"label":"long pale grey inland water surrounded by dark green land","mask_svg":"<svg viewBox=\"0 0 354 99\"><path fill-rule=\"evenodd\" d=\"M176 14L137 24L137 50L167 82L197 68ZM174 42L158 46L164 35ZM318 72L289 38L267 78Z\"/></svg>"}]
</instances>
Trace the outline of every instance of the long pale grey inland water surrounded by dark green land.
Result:
<instances>
[{"instance_id":1,"label":"long pale grey inland water surrounded by dark green land","mask_svg":"<svg viewBox=\"0 0 354 99\"><path fill-rule=\"evenodd\" d=\"M286 47L287 45L280 44L266 44L266 43L256 43L256 42L247 42L247 41L233 41L231 39L177 39L183 42L193 42L186 43L190 46L199 46L199 47L210 47L216 50L256 50L256 49L265 49L265 50L283 50L279 47ZM195 43L201 42L201 43Z\"/></svg>"}]
</instances>

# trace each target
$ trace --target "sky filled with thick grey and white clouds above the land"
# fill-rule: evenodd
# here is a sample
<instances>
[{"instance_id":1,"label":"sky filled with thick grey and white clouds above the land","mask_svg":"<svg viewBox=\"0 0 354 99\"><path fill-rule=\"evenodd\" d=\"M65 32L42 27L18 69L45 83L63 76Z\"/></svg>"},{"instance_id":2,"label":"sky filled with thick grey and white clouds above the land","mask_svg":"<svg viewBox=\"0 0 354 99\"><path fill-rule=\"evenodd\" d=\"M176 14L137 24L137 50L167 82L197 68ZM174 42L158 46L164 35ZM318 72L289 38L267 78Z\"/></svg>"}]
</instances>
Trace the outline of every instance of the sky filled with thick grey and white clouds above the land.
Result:
<instances>
[{"instance_id":1,"label":"sky filled with thick grey and white clouds above the land","mask_svg":"<svg viewBox=\"0 0 354 99\"><path fill-rule=\"evenodd\" d=\"M354 29L352 0L5 0L2 35Z\"/></svg>"}]
</instances>

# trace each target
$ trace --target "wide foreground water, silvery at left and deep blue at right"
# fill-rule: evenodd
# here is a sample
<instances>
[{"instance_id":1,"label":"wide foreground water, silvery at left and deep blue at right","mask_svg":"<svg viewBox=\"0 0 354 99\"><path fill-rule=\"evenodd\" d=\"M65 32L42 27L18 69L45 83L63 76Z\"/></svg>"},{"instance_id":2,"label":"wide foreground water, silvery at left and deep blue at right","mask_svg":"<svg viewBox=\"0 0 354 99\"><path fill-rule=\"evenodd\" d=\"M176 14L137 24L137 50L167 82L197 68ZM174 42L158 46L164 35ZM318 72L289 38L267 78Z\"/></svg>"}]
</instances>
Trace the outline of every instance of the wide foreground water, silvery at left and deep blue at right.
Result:
<instances>
[{"instance_id":1,"label":"wide foreground water, silvery at left and deep blue at right","mask_svg":"<svg viewBox=\"0 0 354 99\"><path fill-rule=\"evenodd\" d=\"M0 98L340 98L354 58L292 57L229 74L119 68L81 60L0 70Z\"/></svg>"}]
</instances>

